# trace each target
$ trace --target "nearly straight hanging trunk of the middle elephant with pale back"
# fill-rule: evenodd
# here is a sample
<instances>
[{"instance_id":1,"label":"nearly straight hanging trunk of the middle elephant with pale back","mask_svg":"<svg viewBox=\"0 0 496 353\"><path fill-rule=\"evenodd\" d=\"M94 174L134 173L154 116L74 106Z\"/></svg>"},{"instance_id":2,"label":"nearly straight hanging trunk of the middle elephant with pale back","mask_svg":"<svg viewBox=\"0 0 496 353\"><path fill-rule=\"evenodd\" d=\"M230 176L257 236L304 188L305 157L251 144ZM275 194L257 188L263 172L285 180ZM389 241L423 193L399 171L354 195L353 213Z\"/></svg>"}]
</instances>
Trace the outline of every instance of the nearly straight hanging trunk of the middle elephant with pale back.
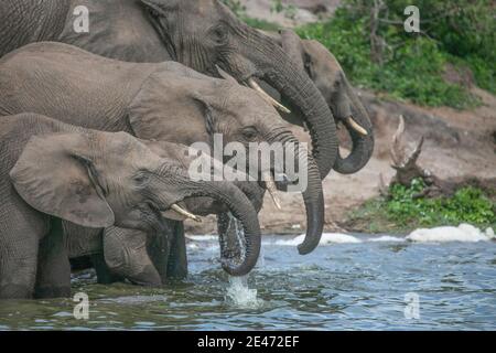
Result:
<instances>
[{"instance_id":1,"label":"nearly straight hanging trunk of the middle elephant with pale back","mask_svg":"<svg viewBox=\"0 0 496 353\"><path fill-rule=\"evenodd\" d=\"M306 188L302 190L303 202L306 211L306 235L302 244L298 246L301 255L306 255L317 247L324 228L324 194L319 168L308 151L300 146L296 138L290 132L282 132L269 139L271 142L282 142L284 147L294 146L294 165L299 173L305 173Z\"/></svg>"}]
</instances>

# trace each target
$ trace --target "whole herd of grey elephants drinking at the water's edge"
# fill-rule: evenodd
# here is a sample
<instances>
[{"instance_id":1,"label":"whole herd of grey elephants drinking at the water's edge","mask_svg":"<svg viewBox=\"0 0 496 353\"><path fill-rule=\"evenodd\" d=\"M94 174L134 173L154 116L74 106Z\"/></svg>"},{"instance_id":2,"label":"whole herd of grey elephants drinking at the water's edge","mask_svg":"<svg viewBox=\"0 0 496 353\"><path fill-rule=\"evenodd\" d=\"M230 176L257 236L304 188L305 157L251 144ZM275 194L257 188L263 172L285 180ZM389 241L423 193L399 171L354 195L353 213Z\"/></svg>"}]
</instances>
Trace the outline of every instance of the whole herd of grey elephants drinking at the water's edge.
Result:
<instances>
[{"instance_id":1,"label":"whole herd of grey elephants drinking at the water's edge","mask_svg":"<svg viewBox=\"0 0 496 353\"><path fill-rule=\"evenodd\" d=\"M309 131L310 152L291 125ZM277 202L294 179L274 181L292 176L287 165L259 170L248 157L247 178L191 178L198 159L211 176L240 175L228 159L191 153L216 135L291 147L308 180L302 255L322 235L322 179L357 172L374 149L367 113L323 45L252 29L219 0L0 0L0 299L68 296L78 266L104 284L184 278L183 221L208 214L222 267L248 274L265 192Z\"/></svg>"}]
</instances>

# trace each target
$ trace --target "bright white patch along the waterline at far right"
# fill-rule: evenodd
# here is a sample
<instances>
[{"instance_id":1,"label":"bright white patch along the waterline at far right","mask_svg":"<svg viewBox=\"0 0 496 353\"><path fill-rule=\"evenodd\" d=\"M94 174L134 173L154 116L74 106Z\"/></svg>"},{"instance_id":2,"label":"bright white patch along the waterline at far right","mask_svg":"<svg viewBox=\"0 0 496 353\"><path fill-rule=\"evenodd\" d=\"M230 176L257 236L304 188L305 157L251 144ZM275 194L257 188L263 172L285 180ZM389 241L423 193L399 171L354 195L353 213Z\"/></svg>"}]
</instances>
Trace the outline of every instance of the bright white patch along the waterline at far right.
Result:
<instances>
[{"instance_id":1,"label":"bright white patch along the waterline at far right","mask_svg":"<svg viewBox=\"0 0 496 353\"><path fill-rule=\"evenodd\" d=\"M488 242L494 239L493 228L485 232L473 225L462 223L460 226L444 226L416 229L407 236L408 240L418 243L446 243L446 242Z\"/></svg>"}]
</instances>

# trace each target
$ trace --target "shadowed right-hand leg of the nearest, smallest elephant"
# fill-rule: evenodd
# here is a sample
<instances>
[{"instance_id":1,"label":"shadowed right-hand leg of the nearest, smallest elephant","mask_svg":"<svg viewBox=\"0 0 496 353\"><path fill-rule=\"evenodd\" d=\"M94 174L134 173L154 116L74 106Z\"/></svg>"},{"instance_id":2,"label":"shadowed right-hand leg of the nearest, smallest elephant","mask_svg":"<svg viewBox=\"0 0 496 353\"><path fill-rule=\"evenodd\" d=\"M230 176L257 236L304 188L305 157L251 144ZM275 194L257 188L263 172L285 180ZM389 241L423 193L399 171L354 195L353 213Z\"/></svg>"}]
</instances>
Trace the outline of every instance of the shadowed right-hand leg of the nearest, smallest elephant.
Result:
<instances>
[{"instance_id":1,"label":"shadowed right-hand leg of the nearest, smallest elephant","mask_svg":"<svg viewBox=\"0 0 496 353\"><path fill-rule=\"evenodd\" d=\"M53 218L47 236L40 242L35 298L71 296L71 264L62 221Z\"/></svg>"}]
</instances>

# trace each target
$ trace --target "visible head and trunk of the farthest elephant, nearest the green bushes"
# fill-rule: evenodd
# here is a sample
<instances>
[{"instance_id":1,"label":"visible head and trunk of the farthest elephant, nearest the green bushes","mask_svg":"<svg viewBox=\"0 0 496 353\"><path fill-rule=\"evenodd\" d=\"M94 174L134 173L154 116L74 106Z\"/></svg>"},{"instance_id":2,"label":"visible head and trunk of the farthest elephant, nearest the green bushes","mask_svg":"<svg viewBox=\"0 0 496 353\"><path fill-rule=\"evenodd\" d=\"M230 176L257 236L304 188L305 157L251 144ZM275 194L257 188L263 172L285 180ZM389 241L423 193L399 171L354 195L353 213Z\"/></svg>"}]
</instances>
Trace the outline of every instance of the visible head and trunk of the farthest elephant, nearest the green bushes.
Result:
<instances>
[{"instance_id":1,"label":"visible head and trunk of the farthest elephant, nearest the green bushes","mask_svg":"<svg viewBox=\"0 0 496 353\"><path fill-rule=\"evenodd\" d=\"M353 142L352 152L346 158L338 154L333 169L342 174L359 171L367 164L374 152L374 130L367 110L349 85L337 60L320 42L301 40L291 30L266 34L277 41L292 62L306 72L330 106L336 125L342 122L349 133ZM281 99L274 90L270 88L267 90L272 92L277 99ZM365 128L367 136L354 130L346 121L348 117L353 117L359 126ZM304 119L299 115L284 115L284 118L292 124L303 126Z\"/></svg>"}]
</instances>

